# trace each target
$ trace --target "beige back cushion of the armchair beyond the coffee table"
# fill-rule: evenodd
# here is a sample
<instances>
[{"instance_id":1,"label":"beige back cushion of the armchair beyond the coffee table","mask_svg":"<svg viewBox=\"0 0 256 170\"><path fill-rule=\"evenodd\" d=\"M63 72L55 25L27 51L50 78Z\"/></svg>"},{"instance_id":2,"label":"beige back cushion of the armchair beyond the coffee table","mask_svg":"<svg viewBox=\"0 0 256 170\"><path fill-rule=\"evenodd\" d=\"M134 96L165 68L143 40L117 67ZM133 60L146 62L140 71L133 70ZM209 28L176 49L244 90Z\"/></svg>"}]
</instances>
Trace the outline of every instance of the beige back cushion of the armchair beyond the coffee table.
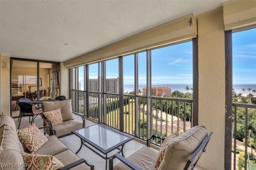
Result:
<instances>
[{"instance_id":1,"label":"beige back cushion of the armchair beyond the coffee table","mask_svg":"<svg viewBox=\"0 0 256 170\"><path fill-rule=\"evenodd\" d=\"M74 120L71 106L71 99L62 100L56 102L45 102L43 101L43 112L51 111L60 108L62 120Z\"/></svg>"}]
</instances>

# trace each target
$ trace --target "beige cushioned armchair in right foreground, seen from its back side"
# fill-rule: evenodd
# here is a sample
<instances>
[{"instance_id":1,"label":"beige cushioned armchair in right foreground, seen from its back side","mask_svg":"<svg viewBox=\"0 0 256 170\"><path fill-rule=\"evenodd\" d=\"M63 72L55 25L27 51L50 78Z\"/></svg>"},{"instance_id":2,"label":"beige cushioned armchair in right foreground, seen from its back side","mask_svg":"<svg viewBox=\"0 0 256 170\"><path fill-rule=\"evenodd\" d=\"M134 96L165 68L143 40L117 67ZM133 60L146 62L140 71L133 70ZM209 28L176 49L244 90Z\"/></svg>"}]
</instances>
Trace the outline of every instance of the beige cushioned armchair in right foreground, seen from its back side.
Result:
<instances>
[{"instance_id":1,"label":"beige cushioned armchair in right foreground, seen from its back side","mask_svg":"<svg viewBox=\"0 0 256 170\"><path fill-rule=\"evenodd\" d=\"M208 135L202 126L192 127L180 136L173 133L165 139L159 152L145 146L128 158L114 154L109 161L109 170L113 169L114 158L121 160L114 166L114 170L190 170L205 151L211 136L212 132Z\"/></svg>"}]
</instances>

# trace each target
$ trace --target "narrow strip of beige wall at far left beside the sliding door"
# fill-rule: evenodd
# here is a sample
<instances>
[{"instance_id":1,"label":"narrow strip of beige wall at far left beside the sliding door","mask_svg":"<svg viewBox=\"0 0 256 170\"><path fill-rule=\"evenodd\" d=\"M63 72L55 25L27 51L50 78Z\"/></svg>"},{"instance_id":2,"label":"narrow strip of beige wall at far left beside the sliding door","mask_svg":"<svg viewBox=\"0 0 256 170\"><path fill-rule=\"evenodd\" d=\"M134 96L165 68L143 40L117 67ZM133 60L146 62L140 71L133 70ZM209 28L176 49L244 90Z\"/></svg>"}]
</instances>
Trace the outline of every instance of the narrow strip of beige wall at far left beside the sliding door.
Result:
<instances>
[{"instance_id":1,"label":"narrow strip of beige wall at far left beside the sliding door","mask_svg":"<svg viewBox=\"0 0 256 170\"><path fill-rule=\"evenodd\" d=\"M1 57L1 68L2 112L10 115L10 57Z\"/></svg>"}]
</instances>

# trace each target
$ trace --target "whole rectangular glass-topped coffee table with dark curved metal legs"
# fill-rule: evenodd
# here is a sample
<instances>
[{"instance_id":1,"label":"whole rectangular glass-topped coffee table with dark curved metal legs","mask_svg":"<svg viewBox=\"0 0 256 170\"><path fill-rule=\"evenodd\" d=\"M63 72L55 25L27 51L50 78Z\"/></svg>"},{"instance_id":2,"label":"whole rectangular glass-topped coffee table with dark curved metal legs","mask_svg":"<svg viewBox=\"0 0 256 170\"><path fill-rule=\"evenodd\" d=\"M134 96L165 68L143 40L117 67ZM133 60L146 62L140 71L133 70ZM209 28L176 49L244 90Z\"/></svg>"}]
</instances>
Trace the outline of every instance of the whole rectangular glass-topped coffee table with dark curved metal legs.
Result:
<instances>
[{"instance_id":1,"label":"whole rectangular glass-topped coffee table with dark curved metal legs","mask_svg":"<svg viewBox=\"0 0 256 170\"><path fill-rule=\"evenodd\" d=\"M108 157L108 153L112 150L118 149L117 152L121 152L122 156L124 156L124 144L134 138L132 136L126 135L125 133L99 124L84 127L82 129L72 131L72 133L81 139L81 146L76 154L81 150L82 145L84 145L98 154L100 157L106 159L106 169L108 165L108 159L112 158L114 155L113 154L112 156ZM105 156L103 156L101 153Z\"/></svg>"}]
</instances>

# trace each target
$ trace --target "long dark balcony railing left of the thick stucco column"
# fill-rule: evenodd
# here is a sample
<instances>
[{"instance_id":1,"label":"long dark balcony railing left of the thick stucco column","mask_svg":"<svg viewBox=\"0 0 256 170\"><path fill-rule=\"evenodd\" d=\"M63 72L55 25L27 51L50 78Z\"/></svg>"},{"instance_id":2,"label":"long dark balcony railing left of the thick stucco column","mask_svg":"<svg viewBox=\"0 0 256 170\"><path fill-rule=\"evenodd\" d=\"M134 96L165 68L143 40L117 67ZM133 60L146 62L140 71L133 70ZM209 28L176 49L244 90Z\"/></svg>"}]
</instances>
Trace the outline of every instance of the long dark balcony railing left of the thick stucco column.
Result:
<instances>
[{"instance_id":1,"label":"long dark balcony railing left of the thick stucco column","mask_svg":"<svg viewBox=\"0 0 256 170\"><path fill-rule=\"evenodd\" d=\"M79 96L74 102L76 111L86 113L86 92L72 90L72 98ZM87 116L115 129L120 129L119 95L114 93L100 94L89 92ZM100 102L99 102L100 101ZM101 103L100 107L98 104ZM72 106L72 107L74 107ZM168 98L124 94L124 132L146 140L150 134L167 136L174 131L186 131L192 127L192 99ZM100 120L99 120L99 113ZM86 115L86 114L85 114ZM151 128L150 128L151 127ZM149 131L148 131L149 130ZM153 141L161 145L162 141Z\"/></svg>"}]
</instances>

